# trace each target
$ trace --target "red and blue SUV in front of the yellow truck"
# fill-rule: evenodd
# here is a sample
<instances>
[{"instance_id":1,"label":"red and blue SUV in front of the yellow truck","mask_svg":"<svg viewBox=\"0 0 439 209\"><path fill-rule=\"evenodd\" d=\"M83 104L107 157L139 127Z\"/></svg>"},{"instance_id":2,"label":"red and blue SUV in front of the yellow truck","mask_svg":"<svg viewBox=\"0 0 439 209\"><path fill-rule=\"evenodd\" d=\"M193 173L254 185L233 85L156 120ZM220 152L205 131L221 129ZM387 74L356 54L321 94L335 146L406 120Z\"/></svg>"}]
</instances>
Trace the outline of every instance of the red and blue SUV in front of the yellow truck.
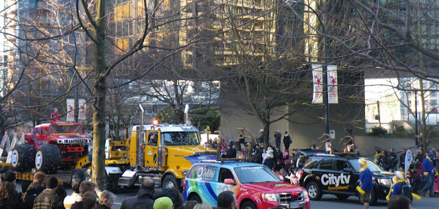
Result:
<instances>
[{"instance_id":1,"label":"red and blue SUV in front of the yellow truck","mask_svg":"<svg viewBox=\"0 0 439 209\"><path fill-rule=\"evenodd\" d=\"M262 164L203 160L189 169L183 184L183 199L217 207L224 190L235 193L240 209L309 208L305 188L281 182Z\"/></svg>"}]
</instances>

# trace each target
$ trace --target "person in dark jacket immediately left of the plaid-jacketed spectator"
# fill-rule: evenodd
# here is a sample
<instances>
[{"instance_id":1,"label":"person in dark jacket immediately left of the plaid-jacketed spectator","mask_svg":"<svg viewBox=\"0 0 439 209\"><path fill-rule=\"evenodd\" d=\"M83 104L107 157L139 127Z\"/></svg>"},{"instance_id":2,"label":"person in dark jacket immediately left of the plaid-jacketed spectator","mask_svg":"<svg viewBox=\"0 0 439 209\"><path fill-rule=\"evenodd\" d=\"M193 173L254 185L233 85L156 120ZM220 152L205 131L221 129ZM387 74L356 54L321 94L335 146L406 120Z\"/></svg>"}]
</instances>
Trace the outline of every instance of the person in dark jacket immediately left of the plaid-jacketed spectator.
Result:
<instances>
[{"instance_id":1,"label":"person in dark jacket immediately left of the plaid-jacketed spectator","mask_svg":"<svg viewBox=\"0 0 439 209\"><path fill-rule=\"evenodd\" d=\"M21 197L24 209L34 208L34 200L45 189L46 175L45 173L38 171L34 174L34 180L27 187L26 192Z\"/></svg>"}]
</instances>

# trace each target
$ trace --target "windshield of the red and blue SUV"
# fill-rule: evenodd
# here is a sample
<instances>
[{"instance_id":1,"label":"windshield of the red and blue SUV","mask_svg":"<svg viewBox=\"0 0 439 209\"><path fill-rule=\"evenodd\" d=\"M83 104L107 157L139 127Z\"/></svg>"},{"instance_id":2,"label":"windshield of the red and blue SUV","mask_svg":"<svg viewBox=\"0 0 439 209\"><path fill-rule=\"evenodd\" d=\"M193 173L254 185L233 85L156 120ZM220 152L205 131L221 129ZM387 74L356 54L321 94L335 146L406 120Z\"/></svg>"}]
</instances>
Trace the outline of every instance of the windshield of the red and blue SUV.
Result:
<instances>
[{"instance_id":1,"label":"windshield of the red and blue SUV","mask_svg":"<svg viewBox=\"0 0 439 209\"><path fill-rule=\"evenodd\" d=\"M241 184L261 183L261 182L280 182L279 178L263 165L251 167L237 167L235 173Z\"/></svg>"}]
</instances>

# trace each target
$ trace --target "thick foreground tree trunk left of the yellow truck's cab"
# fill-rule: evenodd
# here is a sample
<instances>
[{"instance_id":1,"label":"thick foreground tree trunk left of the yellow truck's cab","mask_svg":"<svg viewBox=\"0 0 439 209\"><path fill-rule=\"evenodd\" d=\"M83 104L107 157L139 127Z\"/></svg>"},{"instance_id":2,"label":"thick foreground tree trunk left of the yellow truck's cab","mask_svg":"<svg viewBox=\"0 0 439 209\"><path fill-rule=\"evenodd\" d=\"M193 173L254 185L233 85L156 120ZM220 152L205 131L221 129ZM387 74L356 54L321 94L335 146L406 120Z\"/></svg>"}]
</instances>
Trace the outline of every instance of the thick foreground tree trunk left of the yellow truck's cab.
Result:
<instances>
[{"instance_id":1,"label":"thick foreground tree trunk left of the yellow truck's cab","mask_svg":"<svg viewBox=\"0 0 439 209\"><path fill-rule=\"evenodd\" d=\"M105 184L105 98L106 98L106 64L105 64L105 0L96 2L96 16L94 38L94 59L95 73L93 78L93 161L92 169L93 182L97 183L99 188L104 188Z\"/></svg>"}]
</instances>

